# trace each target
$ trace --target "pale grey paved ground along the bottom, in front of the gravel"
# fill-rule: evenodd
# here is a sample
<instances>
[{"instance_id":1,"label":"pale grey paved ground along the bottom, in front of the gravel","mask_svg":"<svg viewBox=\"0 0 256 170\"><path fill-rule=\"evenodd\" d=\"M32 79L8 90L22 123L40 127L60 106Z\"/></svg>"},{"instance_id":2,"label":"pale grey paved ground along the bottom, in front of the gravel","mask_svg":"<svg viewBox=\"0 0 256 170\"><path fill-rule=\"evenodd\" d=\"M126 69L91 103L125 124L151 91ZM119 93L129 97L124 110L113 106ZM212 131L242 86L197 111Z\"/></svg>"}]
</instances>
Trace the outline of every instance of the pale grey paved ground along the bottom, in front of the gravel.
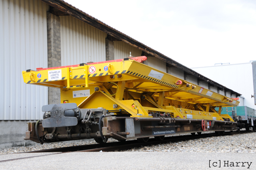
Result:
<instances>
[{"instance_id":1,"label":"pale grey paved ground along the bottom, in front of the gravel","mask_svg":"<svg viewBox=\"0 0 256 170\"><path fill-rule=\"evenodd\" d=\"M23 170L256 170L255 153L71 152L0 155L0 169ZM236 163L237 162L237 163ZM242 163L244 162L244 164Z\"/></svg>"}]
</instances>

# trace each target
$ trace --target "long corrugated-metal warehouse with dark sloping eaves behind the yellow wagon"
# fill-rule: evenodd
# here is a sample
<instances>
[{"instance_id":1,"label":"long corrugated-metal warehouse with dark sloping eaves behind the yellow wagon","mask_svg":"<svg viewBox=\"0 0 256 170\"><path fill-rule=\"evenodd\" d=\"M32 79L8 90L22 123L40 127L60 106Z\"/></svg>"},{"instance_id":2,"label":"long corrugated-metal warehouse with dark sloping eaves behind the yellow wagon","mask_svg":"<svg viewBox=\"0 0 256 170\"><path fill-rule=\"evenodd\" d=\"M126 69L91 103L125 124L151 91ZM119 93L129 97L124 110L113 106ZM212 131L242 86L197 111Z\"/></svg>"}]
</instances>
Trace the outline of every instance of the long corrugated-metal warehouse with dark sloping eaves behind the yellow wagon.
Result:
<instances>
[{"instance_id":1,"label":"long corrugated-metal warehouse with dark sloping eaves behind the yellow wagon","mask_svg":"<svg viewBox=\"0 0 256 170\"><path fill-rule=\"evenodd\" d=\"M62 0L0 1L0 147L28 145L26 122L60 103L55 88L31 86L23 70L147 56L144 64L227 97L240 96Z\"/></svg>"}]
</instances>

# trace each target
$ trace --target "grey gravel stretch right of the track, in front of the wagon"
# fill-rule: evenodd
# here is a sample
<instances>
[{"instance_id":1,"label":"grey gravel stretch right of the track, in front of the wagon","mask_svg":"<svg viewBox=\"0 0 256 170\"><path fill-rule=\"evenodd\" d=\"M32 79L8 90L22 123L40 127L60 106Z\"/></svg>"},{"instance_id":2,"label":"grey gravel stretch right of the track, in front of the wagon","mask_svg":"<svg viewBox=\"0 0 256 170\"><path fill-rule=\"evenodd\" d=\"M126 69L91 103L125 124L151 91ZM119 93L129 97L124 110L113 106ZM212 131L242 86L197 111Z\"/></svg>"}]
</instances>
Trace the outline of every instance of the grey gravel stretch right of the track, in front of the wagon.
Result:
<instances>
[{"instance_id":1,"label":"grey gravel stretch right of the track, in front of the wagon","mask_svg":"<svg viewBox=\"0 0 256 170\"><path fill-rule=\"evenodd\" d=\"M144 146L128 152L256 152L256 133L213 136L180 142L168 142L157 146Z\"/></svg>"}]
</instances>

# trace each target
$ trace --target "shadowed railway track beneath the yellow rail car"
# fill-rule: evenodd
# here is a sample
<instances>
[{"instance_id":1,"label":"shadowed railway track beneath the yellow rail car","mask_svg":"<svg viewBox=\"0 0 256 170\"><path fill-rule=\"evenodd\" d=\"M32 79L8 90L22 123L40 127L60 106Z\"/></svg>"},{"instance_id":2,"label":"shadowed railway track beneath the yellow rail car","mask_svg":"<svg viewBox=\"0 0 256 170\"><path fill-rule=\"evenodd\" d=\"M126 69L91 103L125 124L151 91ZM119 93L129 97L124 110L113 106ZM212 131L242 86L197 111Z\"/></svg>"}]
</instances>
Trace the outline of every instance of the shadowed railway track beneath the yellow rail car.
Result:
<instances>
[{"instance_id":1,"label":"shadowed railway track beneath the yellow rail car","mask_svg":"<svg viewBox=\"0 0 256 170\"><path fill-rule=\"evenodd\" d=\"M249 133L252 131L249 131ZM234 135L234 134L241 134L241 133L248 133L248 131L241 131L241 132L226 132L225 134L222 134L221 136L227 136L227 135ZM154 138L150 138L150 140L146 143L139 143L138 140L129 140L126 142L109 142L104 145L101 144L91 144L91 145L84 145L84 146L71 146L66 148L53 148L53 149L46 149L46 150L36 150L36 151L30 151L30 152L21 152L18 154L24 154L24 153L49 153L49 152L57 152L57 153L49 153L45 155L38 155L38 156L29 156L29 157L22 157L22 158L14 158L9 160L1 160L1 162L8 162L13 160L21 160L21 159L28 159L28 158L35 158L35 157L41 157L41 156L48 156L53 154L64 154L69 152L114 152L114 151L120 151L120 150L128 150L130 148L136 148L136 147L142 147L142 146L148 146L148 145L157 145L157 144L164 144L168 142L177 142L182 140L192 140L197 138L209 138L212 136L220 136L215 133L207 133L207 134L200 134L200 135L182 135L182 136L170 136L164 138L162 141L156 141Z\"/></svg>"}]
</instances>

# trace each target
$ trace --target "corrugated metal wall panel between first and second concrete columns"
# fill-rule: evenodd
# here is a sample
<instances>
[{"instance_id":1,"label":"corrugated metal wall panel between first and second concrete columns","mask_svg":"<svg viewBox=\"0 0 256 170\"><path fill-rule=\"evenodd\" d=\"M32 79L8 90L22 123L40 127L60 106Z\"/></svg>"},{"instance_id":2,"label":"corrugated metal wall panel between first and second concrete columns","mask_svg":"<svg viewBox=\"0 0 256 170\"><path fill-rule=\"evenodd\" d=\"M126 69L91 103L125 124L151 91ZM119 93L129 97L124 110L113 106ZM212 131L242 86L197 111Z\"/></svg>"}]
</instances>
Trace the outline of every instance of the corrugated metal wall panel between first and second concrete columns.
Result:
<instances>
[{"instance_id":1,"label":"corrugated metal wall panel between first and second concrete columns","mask_svg":"<svg viewBox=\"0 0 256 170\"><path fill-rule=\"evenodd\" d=\"M107 34L72 17L60 16L61 65L106 61Z\"/></svg>"}]
</instances>

